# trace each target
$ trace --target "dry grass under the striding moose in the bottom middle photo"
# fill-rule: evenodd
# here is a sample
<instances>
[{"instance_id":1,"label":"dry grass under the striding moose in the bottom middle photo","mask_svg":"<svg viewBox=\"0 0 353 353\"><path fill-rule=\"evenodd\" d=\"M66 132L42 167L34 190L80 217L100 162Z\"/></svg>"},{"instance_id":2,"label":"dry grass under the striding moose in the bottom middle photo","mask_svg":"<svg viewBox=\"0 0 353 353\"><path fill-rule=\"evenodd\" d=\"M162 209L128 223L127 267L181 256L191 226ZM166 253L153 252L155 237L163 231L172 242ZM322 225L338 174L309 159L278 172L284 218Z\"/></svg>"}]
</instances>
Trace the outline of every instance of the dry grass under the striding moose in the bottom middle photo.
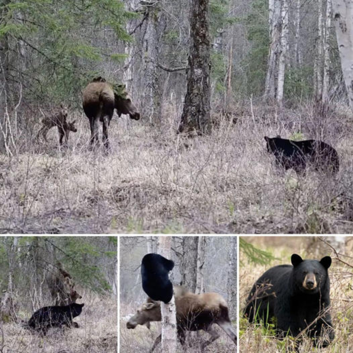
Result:
<instances>
[{"instance_id":1,"label":"dry grass under the striding moose in the bottom middle photo","mask_svg":"<svg viewBox=\"0 0 353 353\"><path fill-rule=\"evenodd\" d=\"M135 313L137 307L131 304L120 304L120 318ZM213 327L218 331L220 337L205 348L205 353L235 353L237 348L232 340L217 325ZM135 329L126 328L126 320L120 320L120 352L124 353L146 353L152 347L153 342L161 333L161 324L159 322L151 322L151 329L146 326L138 325ZM201 343L209 339L209 335L204 331L199 331L199 337L196 333L191 333L187 338L186 346L178 343L177 353L201 353ZM159 345L155 351L161 353Z\"/></svg>"}]
</instances>

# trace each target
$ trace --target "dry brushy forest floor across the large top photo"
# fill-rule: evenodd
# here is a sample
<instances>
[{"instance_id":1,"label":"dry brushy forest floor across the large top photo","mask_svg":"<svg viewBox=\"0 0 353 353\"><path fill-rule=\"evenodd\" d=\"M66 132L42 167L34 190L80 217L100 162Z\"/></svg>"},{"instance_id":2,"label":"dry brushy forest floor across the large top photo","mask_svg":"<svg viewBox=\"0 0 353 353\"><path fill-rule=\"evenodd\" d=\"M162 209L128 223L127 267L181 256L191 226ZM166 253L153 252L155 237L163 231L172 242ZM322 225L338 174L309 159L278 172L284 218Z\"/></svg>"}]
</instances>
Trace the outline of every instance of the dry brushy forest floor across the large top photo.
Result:
<instances>
[{"instance_id":1,"label":"dry brushy forest floor across the large top photo","mask_svg":"<svg viewBox=\"0 0 353 353\"><path fill-rule=\"evenodd\" d=\"M77 115L77 114L76 114ZM10 233L350 233L353 118L336 108L318 118L307 105L239 108L209 136L175 134L170 109L157 130L114 116L112 151L88 149L79 115L68 149L25 137L0 156L0 232ZM163 121L164 118L162 118ZM71 119L69 119L71 120ZM39 125L32 127L32 135ZM101 133L101 128L100 128ZM28 133L29 134L29 133ZM321 139L337 149L336 178L279 170L264 136Z\"/></svg>"}]
</instances>

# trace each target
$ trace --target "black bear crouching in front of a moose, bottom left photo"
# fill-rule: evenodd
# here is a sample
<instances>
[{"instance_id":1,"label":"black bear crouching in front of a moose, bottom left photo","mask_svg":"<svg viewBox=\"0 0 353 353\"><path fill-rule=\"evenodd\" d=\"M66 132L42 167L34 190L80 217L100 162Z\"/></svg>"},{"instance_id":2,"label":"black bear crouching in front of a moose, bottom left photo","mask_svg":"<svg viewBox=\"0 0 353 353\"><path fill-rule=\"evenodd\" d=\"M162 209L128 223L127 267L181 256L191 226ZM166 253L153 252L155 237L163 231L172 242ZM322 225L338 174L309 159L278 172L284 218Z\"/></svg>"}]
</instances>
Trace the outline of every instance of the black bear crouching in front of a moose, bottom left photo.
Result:
<instances>
[{"instance_id":1,"label":"black bear crouching in front of a moose, bottom left photo","mask_svg":"<svg viewBox=\"0 0 353 353\"><path fill-rule=\"evenodd\" d=\"M78 327L72 319L79 316L84 304L72 303L64 306L44 306L38 309L29 319L28 326L46 335L51 327L62 325Z\"/></svg>"}]
</instances>

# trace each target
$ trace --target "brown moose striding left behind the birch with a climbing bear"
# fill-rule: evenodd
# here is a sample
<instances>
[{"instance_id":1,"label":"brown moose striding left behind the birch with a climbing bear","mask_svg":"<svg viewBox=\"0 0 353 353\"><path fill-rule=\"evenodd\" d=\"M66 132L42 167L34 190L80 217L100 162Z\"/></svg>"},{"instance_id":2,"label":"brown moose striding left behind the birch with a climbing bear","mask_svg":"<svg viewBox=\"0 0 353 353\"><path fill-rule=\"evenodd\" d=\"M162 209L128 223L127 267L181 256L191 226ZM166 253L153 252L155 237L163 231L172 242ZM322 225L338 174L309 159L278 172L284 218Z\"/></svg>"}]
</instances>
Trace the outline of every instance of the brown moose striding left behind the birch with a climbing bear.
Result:
<instances>
[{"instance_id":1,"label":"brown moose striding left behind the birch with a climbing bear","mask_svg":"<svg viewBox=\"0 0 353 353\"><path fill-rule=\"evenodd\" d=\"M175 307L177 310L177 333L181 344L185 344L186 331L204 330L211 337L202 343L201 349L203 350L220 336L212 328L213 324L219 325L235 345L237 344L237 335L229 319L227 303L220 294L187 292L179 296L175 293ZM148 298L146 303L142 304L136 314L129 319L126 327L134 329L137 325L149 325L151 321L161 321L161 305L160 302ZM150 353L161 342L161 337L162 335L159 335L156 338Z\"/></svg>"}]
</instances>

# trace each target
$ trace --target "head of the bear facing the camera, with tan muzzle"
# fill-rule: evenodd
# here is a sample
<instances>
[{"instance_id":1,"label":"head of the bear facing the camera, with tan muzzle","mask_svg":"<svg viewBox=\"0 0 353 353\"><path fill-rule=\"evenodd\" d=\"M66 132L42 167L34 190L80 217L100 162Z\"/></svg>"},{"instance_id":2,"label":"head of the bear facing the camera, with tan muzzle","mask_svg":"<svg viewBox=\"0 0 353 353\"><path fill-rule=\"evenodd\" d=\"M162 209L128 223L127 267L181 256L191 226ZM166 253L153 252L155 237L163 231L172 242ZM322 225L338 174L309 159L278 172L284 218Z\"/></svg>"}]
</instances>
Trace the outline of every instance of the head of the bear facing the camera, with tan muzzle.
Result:
<instances>
[{"instance_id":1,"label":"head of the bear facing the camera, with tan muzzle","mask_svg":"<svg viewBox=\"0 0 353 353\"><path fill-rule=\"evenodd\" d=\"M331 258L323 257L320 261L303 260L299 255L291 257L293 265L294 285L300 292L315 294L329 284L327 269L331 266Z\"/></svg>"}]
</instances>

